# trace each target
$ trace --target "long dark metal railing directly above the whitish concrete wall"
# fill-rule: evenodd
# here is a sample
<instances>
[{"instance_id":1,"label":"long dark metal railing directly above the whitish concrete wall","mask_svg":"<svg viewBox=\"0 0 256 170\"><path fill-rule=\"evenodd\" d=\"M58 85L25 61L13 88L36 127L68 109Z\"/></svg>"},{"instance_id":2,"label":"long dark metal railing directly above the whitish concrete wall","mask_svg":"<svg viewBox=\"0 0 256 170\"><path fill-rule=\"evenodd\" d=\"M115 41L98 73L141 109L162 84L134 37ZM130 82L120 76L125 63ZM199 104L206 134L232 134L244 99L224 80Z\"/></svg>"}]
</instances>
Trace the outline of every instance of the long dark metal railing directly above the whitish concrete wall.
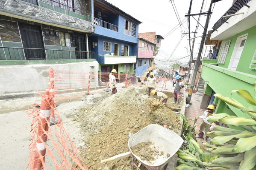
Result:
<instances>
[{"instance_id":1,"label":"long dark metal railing directly above the whitish concrete wall","mask_svg":"<svg viewBox=\"0 0 256 170\"><path fill-rule=\"evenodd\" d=\"M91 51L0 47L0 60L94 59Z\"/></svg>"}]
</instances>

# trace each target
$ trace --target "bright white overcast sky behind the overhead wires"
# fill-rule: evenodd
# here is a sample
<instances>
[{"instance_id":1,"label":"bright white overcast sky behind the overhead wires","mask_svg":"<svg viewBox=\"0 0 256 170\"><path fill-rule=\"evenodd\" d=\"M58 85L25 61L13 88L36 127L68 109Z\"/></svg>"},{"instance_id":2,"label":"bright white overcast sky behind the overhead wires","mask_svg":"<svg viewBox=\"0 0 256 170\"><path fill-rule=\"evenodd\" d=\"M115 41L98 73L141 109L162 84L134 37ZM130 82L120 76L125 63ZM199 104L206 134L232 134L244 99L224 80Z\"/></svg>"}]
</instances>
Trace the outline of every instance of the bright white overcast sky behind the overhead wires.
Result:
<instances>
[{"instance_id":1,"label":"bright white overcast sky behind the overhead wires","mask_svg":"<svg viewBox=\"0 0 256 170\"><path fill-rule=\"evenodd\" d=\"M177 8L177 12L179 14L180 20L184 20L181 28L177 28L175 31L171 31L175 26L179 25L178 19L174 13L174 8L170 2L170 0L107 0L109 3L117 6L121 10L125 11L127 14L130 14L132 17L135 17L137 20L142 23L139 25L138 32L156 32L156 34L165 37L161 42L161 48L158 55L155 57L155 62L157 66L161 67L164 64L170 65L171 62L159 62L157 59L165 60L168 59L178 59L181 57L185 57L190 55L188 45L188 34L186 34L176 50L175 47L178 44L179 40L182 37L182 33L187 33L187 17L185 14L188 13L188 8L190 4L190 0L172 0L172 3L175 4ZM210 17L208 31L212 30L212 26L216 23L221 16L232 6L233 0L221 0L215 4L213 4L212 15ZM191 7L191 14L200 13L200 8L203 0L193 0ZM210 5L210 0L204 0L203 12L208 11ZM195 16L198 19L198 16ZM194 32L197 21L190 17L191 21L191 32ZM205 25L206 15L201 15L200 24L202 26ZM171 31L171 34L168 32ZM201 36L203 34L203 28L199 26L197 35ZM194 37L191 34L191 37ZM194 57L197 57L198 49L200 46L201 37L196 38L195 46L194 46ZM192 42L191 42L192 44ZM210 47L204 47L203 56L209 53ZM171 55L172 54L172 55ZM185 57L180 59L179 62L188 62L189 57Z\"/></svg>"}]
</instances>

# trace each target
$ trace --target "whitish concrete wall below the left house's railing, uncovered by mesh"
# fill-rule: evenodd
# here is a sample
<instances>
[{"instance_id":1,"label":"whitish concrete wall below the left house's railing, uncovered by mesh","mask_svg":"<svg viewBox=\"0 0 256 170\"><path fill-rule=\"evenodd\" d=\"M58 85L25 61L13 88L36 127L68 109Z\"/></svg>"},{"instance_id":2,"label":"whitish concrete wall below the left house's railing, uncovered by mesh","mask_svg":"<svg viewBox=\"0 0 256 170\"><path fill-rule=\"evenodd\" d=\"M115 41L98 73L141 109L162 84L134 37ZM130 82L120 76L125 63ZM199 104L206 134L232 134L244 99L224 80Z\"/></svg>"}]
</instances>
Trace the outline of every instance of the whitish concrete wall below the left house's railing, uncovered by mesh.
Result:
<instances>
[{"instance_id":1,"label":"whitish concrete wall below the left house's railing, uncovered by mesh","mask_svg":"<svg viewBox=\"0 0 256 170\"><path fill-rule=\"evenodd\" d=\"M38 65L10 65L0 66L0 93L31 93L44 91L48 86L49 68L64 71L89 72L94 66L94 72L98 73L98 62L79 62L67 64L38 64ZM97 77L91 85L98 85ZM70 84L69 84L70 85ZM92 86L91 86L92 87Z\"/></svg>"}]
</instances>

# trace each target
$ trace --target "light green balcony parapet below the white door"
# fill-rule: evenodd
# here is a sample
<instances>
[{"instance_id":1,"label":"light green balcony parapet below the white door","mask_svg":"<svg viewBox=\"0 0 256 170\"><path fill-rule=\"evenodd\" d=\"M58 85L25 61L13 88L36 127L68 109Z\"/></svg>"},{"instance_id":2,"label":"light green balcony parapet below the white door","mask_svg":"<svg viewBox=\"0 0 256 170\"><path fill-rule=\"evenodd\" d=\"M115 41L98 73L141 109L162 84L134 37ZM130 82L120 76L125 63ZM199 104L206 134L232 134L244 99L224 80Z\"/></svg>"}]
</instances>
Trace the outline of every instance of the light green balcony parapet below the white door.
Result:
<instances>
[{"instance_id":1,"label":"light green balcony parapet below the white door","mask_svg":"<svg viewBox=\"0 0 256 170\"><path fill-rule=\"evenodd\" d=\"M233 94L231 96L232 90L246 89L253 95L254 99L256 99L254 96L254 82L256 81L255 75L243 74L235 71L230 71L226 68L221 68L215 65L203 64L201 77L205 81L208 81L207 85L209 85L210 88L212 88L212 90L214 90L216 93L220 93L223 96L234 98L247 107L251 105L241 99L238 94ZM229 107L232 112L235 113L235 115L248 117L243 112L238 111L232 106Z\"/></svg>"}]
</instances>

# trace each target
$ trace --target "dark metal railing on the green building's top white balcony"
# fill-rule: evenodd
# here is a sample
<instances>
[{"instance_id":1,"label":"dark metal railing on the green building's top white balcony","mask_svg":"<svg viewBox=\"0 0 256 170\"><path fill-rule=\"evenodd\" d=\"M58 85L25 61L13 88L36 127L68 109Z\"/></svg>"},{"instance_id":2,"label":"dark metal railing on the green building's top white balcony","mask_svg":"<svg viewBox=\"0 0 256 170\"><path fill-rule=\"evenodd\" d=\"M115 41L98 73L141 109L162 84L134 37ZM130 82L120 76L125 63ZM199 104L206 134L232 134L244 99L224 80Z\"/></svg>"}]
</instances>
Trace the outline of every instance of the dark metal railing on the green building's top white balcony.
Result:
<instances>
[{"instance_id":1,"label":"dark metal railing on the green building's top white balcony","mask_svg":"<svg viewBox=\"0 0 256 170\"><path fill-rule=\"evenodd\" d=\"M227 15L231 15L231 14L235 14L237 11L239 11L239 9L241 9L244 4L243 3L248 3L251 0L240 0L241 2L239 2L239 0L237 0L230 8L229 10L227 10L227 12L222 15L222 17L227 16ZM227 22L228 19L230 19L230 17L224 17L224 18L220 18L212 27L213 31L216 31L222 24L224 24L225 22Z\"/></svg>"}]
</instances>

